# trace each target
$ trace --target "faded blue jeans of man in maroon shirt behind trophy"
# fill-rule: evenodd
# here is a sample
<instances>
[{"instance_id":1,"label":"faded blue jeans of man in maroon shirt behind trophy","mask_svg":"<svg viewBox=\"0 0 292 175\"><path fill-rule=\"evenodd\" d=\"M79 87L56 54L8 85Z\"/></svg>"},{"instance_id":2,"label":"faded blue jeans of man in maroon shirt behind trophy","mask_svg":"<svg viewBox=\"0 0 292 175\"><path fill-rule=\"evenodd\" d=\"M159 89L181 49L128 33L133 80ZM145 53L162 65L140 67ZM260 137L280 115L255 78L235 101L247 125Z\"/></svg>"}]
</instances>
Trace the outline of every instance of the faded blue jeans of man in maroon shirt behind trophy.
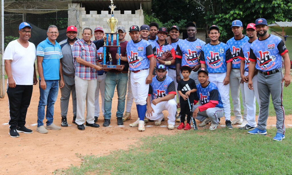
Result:
<instances>
[{"instance_id":1,"label":"faded blue jeans of man in maroon shirt behind trophy","mask_svg":"<svg viewBox=\"0 0 292 175\"><path fill-rule=\"evenodd\" d=\"M112 73L107 72L105 77L105 119L110 119L112 116L112 98L114 96L114 89L117 85L118 91L118 107L117 117L123 117L125 110L125 100L127 93L128 73Z\"/></svg>"}]
</instances>

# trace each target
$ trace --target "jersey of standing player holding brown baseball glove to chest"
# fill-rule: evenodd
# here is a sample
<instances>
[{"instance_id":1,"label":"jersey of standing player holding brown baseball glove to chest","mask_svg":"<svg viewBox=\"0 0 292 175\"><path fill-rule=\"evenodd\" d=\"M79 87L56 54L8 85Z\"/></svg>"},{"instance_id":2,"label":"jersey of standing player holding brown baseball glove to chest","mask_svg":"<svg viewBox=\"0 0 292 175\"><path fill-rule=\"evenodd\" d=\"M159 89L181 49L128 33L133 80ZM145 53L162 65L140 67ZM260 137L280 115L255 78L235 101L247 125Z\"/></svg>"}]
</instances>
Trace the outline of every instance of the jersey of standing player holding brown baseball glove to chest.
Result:
<instances>
[{"instance_id":1,"label":"jersey of standing player holding brown baseball glove to chest","mask_svg":"<svg viewBox=\"0 0 292 175\"><path fill-rule=\"evenodd\" d=\"M162 45L162 46L158 43L158 40L152 42L151 45L152 45L152 48L153 49L155 48L155 50L156 50L156 66L158 66L160 64L157 59L161 59L161 55L163 52L170 51L173 59L175 59L175 51L174 51L172 45L168 44L166 42L166 40L165 40L164 45ZM167 65L165 65L165 66L166 66L166 68L168 68Z\"/></svg>"}]
</instances>

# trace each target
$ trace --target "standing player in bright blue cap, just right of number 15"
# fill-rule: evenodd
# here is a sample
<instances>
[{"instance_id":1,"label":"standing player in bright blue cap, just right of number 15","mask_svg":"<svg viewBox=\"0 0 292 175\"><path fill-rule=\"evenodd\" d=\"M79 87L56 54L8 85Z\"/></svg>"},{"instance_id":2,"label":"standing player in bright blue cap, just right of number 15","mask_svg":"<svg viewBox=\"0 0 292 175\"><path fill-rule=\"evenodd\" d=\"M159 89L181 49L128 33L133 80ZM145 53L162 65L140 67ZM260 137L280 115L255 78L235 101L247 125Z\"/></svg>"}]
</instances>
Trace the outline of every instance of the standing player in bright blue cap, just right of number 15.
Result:
<instances>
[{"instance_id":1,"label":"standing player in bright blue cap, just right of number 15","mask_svg":"<svg viewBox=\"0 0 292 175\"><path fill-rule=\"evenodd\" d=\"M248 37L242 34L242 22L240 20L232 21L231 25L232 32L234 37L227 41L227 45L230 48L230 52L232 55L232 68L230 72L230 92L233 104L233 112L235 118L231 121L231 124L242 124L242 127L246 125L246 105L245 105L245 96L244 96L244 85L240 83L240 62L241 59L239 57L241 45L243 45ZM242 105L244 107L243 119L241 117L240 110L240 99L239 99L239 89L241 90L242 97Z\"/></svg>"}]
</instances>

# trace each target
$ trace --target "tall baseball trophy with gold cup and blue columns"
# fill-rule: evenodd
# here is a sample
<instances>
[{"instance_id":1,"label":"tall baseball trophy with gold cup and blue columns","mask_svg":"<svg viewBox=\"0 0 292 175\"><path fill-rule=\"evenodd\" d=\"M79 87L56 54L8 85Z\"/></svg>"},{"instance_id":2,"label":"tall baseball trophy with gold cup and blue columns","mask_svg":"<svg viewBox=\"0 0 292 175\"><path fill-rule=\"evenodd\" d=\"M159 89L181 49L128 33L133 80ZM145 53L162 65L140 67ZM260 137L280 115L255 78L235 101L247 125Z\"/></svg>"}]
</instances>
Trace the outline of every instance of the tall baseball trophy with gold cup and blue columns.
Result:
<instances>
[{"instance_id":1,"label":"tall baseball trophy with gold cup and blue columns","mask_svg":"<svg viewBox=\"0 0 292 175\"><path fill-rule=\"evenodd\" d=\"M110 13L112 15L111 18L109 18L107 20L107 24L109 25L109 28L111 30L110 33L105 33L106 34L106 42L105 45L103 46L103 65L102 68L103 69L121 69L121 65L120 65L120 58L117 60L117 64L113 65L112 64L112 56L115 55L110 55L109 54L109 63L106 64L106 48L107 47L117 47L117 53L120 55L120 45L119 45L119 33L114 32L114 29L116 28L117 24L118 24L118 20L114 18L114 9L116 8L116 6L114 6L114 3L111 0L111 5L109 6L109 8L111 9ZM109 36L110 35L110 36ZM114 35L116 35L116 40L117 40L117 45L114 45L113 41L114 41ZM110 45L109 45L109 37L110 37Z\"/></svg>"}]
</instances>

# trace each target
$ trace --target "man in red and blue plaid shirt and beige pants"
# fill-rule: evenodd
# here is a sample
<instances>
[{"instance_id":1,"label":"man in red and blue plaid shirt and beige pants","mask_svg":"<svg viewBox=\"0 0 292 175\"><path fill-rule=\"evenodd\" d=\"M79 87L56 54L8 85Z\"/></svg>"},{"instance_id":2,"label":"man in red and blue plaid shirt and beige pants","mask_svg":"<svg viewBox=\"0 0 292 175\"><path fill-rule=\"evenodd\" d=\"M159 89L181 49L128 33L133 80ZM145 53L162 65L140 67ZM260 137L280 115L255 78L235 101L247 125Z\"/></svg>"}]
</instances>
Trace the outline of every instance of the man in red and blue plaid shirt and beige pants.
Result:
<instances>
[{"instance_id":1,"label":"man in red and blue plaid shirt and beige pants","mask_svg":"<svg viewBox=\"0 0 292 175\"><path fill-rule=\"evenodd\" d=\"M84 130L83 123L86 100L86 126L98 128L94 123L94 95L96 89L96 70L101 70L97 61L96 46L90 40L92 30L84 28L82 39L76 41L72 48L75 69L75 87L77 98L76 124L79 130Z\"/></svg>"}]
</instances>

